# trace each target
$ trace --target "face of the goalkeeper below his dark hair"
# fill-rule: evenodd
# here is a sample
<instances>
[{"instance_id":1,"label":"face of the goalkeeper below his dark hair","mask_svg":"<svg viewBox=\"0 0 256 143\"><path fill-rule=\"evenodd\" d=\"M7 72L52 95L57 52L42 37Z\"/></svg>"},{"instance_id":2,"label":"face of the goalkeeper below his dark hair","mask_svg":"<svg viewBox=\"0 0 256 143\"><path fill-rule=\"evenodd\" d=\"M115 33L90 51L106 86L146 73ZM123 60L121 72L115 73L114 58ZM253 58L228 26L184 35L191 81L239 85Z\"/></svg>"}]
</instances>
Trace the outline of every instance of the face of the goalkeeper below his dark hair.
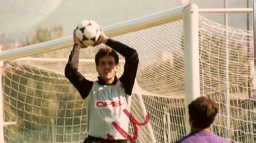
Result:
<instances>
[{"instance_id":1,"label":"face of the goalkeeper below his dark hair","mask_svg":"<svg viewBox=\"0 0 256 143\"><path fill-rule=\"evenodd\" d=\"M115 72L119 64L115 64L115 58L106 56L99 59L99 65L96 67L100 77L105 80L106 84L111 84L115 79Z\"/></svg>"}]
</instances>

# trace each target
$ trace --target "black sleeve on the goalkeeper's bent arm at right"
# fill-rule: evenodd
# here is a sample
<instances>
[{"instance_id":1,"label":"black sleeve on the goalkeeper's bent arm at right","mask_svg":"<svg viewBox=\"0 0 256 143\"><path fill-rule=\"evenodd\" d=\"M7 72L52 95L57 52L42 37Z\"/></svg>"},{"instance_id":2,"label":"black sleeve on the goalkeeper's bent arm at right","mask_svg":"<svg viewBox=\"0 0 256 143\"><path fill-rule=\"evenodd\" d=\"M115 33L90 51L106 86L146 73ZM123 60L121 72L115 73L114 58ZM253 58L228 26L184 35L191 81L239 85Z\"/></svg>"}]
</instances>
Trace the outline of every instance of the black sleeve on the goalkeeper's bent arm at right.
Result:
<instances>
[{"instance_id":1,"label":"black sleeve on the goalkeeper's bent arm at right","mask_svg":"<svg viewBox=\"0 0 256 143\"><path fill-rule=\"evenodd\" d=\"M108 39L106 45L110 46L124 56L124 73L119 80L124 85L125 92L128 95L132 95L132 88L139 64L139 57L137 51L113 39Z\"/></svg>"}]
</instances>

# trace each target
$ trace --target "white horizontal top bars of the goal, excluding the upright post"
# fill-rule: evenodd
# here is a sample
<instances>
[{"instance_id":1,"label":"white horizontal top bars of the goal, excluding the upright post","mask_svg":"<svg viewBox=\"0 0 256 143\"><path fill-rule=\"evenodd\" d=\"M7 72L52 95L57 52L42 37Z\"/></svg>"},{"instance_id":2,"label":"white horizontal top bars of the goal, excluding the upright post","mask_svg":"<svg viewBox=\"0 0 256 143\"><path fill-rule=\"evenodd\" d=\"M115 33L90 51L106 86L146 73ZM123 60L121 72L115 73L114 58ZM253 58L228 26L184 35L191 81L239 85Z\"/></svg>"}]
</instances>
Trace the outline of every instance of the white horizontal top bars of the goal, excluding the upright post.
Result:
<instances>
[{"instance_id":1,"label":"white horizontal top bars of the goal, excluding the upright post","mask_svg":"<svg viewBox=\"0 0 256 143\"><path fill-rule=\"evenodd\" d=\"M118 24L103 27L103 30L106 35L112 37L139 29L146 29L161 25L170 21L177 21L183 17L182 11L184 8L185 6L181 6L130 21L124 21ZM200 8L199 13L252 13L252 8ZM35 45L24 46L18 49L1 52L0 61L22 58L52 50L59 50L72 46L72 44L72 36L67 36Z\"/></svg>"}]
</instances>

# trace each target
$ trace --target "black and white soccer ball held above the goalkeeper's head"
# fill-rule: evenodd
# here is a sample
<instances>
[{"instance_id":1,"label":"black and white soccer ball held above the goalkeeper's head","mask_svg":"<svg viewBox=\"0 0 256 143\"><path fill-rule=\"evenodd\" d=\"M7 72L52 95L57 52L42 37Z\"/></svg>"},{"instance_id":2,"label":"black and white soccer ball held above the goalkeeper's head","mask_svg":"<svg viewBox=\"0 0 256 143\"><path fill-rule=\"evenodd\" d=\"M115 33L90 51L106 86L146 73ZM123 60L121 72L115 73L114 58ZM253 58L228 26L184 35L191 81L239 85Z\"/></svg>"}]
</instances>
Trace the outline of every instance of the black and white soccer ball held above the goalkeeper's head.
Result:
<instances>
[{"instance_id":1,"label":"black and white soccer ball held above the goalkeeper's head","mask_svg":"<svg viewBox=\"0 0 256 143\"><path fill-rule=\"evenodd\" d=\"M76 26L75 36L84 46L92 46L100 38L101 29L95 21L83 20Z\"/></svg>"}]
</instances>

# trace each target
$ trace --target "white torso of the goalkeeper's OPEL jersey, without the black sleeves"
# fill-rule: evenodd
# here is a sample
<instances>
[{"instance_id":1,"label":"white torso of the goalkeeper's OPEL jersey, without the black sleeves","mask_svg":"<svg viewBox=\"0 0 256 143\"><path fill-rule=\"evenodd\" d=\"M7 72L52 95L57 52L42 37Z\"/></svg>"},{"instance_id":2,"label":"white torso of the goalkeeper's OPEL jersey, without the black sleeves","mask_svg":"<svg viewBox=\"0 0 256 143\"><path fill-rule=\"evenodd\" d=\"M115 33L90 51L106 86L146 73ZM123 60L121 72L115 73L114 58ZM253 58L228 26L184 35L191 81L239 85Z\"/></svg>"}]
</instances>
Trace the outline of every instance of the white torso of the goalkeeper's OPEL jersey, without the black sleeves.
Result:
<instances>
[{"instance_id":1,"label":"white torso of the goalkeeper's OPEL jersey, without the black sleeves","mask_svg":"<svg viewBox=\"0 0 256 143\"><path fill-rule=\"evenodd\" d=\"M128 133L129 118L123 110L130 111L131 96L125 93L124 86L117 80L114 85L101 85L93 82L86 98L88 135L107 139L107 134L115 139L125 139L112 125L116 122Z\"/></svg>"}]
</instances>

